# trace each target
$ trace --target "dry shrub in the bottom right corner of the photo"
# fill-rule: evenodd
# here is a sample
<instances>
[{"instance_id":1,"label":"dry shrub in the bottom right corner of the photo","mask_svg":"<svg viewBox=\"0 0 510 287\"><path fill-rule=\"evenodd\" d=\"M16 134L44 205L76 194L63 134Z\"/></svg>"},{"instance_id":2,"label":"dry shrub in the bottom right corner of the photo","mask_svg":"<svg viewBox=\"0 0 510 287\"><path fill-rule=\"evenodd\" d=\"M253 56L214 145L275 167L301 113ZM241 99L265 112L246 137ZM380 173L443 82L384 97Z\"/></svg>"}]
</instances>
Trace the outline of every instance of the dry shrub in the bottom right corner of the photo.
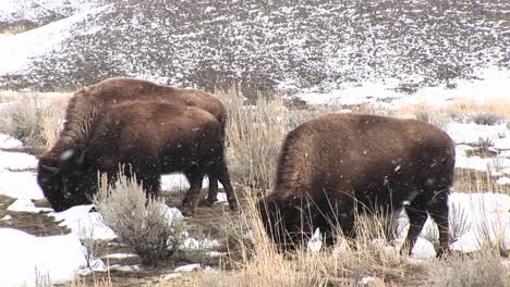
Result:
<instances>
[{"instance_id":1,"label":"dry shrub in the bottom right corner of the photo","mask_svg":"<svg viewBox=\"0 0 510 287\"><path fill-rule=\"evenodd\" d=\"M482 249L471 255L454 255L428 264L430 277L425 286L435 287L506 287L510 274L501 264L501 258L490 249Z\"/></svg>"}]
</instances>

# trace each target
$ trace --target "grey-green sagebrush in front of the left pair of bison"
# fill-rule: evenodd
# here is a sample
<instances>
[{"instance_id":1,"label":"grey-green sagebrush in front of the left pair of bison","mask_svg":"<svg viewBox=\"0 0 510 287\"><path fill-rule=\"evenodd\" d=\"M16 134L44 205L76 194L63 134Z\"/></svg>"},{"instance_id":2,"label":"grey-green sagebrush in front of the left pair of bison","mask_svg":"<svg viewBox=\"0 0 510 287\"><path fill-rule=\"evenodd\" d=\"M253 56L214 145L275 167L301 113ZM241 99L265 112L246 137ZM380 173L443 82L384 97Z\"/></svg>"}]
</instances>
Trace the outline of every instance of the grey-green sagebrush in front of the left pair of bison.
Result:
<instances>
[{"instance_id":1,"label":"grey-green sagebrush in front of the left pair of bison","mask_svg":"<svg viewBox=\"0 0 510 287\"><path fill-rule=\"evenodd\" d=\"M134 177L119 174L119 180L110 187L102 175L93 202L105 224L116 232L120 242L138 254L144 265L156 266L168 259L182 240L182 220L168 214L165 202L147 199Z\"/></svg>"}]
</instances>

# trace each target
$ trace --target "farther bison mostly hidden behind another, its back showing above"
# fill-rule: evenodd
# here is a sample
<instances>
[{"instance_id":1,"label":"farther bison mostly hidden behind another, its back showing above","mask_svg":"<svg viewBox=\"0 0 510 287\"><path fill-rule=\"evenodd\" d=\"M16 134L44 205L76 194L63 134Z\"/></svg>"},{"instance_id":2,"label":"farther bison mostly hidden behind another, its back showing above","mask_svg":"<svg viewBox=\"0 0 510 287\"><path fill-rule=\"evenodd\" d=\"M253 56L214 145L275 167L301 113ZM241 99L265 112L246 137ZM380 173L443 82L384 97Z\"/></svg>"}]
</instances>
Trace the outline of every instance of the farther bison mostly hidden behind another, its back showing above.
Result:
<instances>
[{"instance_id":1,"label":"farther bison mostly hidden behind another, its back showing above","mask_svg":"<svg viewBox=\"0 0 510 287\"><path fill-rule=\"evenodd\" d=\"M223 102L214 95L195 89L181 89L142 79L120 77L102 80L73 95L68 105L65 128L56 145L66 147L73 141L82 140L87 136L87 129L94 124L97 114L101 113L105 107L130 100L161 100L201 108L218 120L224 138L227 109ZM218 180L212 175L208 176L209 195L205 203L210 205L216 201Z\"/></svg>"}]
</instances>

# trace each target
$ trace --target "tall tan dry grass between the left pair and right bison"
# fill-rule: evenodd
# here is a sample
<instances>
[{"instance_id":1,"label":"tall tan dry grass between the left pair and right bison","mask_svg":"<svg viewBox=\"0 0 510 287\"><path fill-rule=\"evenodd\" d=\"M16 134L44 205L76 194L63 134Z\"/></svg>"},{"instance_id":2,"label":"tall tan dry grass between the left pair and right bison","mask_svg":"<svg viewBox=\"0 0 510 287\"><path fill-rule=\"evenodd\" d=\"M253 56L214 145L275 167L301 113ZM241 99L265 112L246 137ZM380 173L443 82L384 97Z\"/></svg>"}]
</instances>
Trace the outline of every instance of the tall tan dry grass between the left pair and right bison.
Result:
<instances>
[{"instance_id":1,"label":"tall tan dry grass between the left pair and right bison","mask_svg":"<svg viewBox=\"0 0 510 287\"><path fill-rule=\"evenodd\" d=\"M228 110L227 158L235 182L255 188L272 187L276 160L289 132L289 111L280 98L245 105L240 88L217 91Z\"/></svg>"}]
</instances>

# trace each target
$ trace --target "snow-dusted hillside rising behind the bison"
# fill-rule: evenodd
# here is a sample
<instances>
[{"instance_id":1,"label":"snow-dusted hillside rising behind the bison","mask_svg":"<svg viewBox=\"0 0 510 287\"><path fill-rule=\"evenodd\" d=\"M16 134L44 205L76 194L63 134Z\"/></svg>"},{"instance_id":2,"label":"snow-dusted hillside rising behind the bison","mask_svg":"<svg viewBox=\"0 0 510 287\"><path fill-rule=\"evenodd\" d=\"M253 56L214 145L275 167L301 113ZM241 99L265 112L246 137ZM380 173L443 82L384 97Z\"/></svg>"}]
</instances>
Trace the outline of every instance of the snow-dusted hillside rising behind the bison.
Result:
<instances>
[{"instance_id":1,"label":"snow-dusted hillside rising behind the bison","mask_svg":"<svg viewBox=\"0 0 510 287\"><path fill-rule=\"evenodd\" d=\"M509 68L503 0L108 2L66 26L27 32L48 45L24 54L27 65L0 68L0 86L58 89L124 75L205 89L242 83L248 97L367 82L413 92ZM0 47L23 50L24 34Z\"/></svg>"}]
</instances>

